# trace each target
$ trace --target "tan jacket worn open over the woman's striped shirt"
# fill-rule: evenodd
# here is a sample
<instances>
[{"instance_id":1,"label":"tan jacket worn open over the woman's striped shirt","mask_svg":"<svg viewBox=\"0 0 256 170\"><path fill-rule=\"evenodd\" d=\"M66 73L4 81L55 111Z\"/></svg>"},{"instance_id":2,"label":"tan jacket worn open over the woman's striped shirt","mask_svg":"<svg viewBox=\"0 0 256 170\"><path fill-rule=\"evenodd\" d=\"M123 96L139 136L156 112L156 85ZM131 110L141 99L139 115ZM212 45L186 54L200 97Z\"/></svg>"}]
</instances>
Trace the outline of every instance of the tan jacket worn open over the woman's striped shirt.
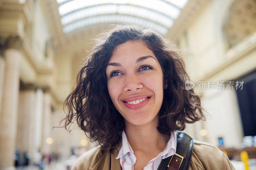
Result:
<instances>
[{"instance_id":1,"label":"tan jacket worn open over the woman's striped shirt","mask_svg":"<svg viewBox=\"0 0 256 170\"><path fill-rule=\"evenodd\" d=\"M233 170L226 155L216 146L194 140L195 145L189 170ZM112 153L102 154L100 146L85 152L75 163L72 170L121 170L119 159L116 159L122 142Z\"/></svg>"}]
</instances>

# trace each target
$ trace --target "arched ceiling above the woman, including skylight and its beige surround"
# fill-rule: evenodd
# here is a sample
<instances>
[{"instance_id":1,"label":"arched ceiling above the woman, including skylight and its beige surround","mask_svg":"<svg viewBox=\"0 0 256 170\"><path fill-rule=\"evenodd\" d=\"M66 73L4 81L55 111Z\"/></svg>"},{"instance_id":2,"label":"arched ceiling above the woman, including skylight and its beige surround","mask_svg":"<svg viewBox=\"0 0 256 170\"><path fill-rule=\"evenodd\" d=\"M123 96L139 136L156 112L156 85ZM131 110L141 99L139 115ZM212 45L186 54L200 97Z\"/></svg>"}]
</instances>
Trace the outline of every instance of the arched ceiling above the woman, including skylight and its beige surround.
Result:
<instances>
[{"instance_id":1,"label":"arched ceiling above the woman, including skylight and its beige surround","mask_svg":"<svg viewBox=\"0 0 256 170\"><path fill-rule=\"evenodd\" d=\"M110 25L122 23L134 23L152 28L175 41L210 0L44 0L40 2L48 18L55 49L72 53L78 51L78 48L87 49L85 46L90 46L91 40L109 29ZM71 2L76 3L68 5ZM61 11L61 6L64 4L67 6L63 6Z\"/></svg>"}]
</instances>

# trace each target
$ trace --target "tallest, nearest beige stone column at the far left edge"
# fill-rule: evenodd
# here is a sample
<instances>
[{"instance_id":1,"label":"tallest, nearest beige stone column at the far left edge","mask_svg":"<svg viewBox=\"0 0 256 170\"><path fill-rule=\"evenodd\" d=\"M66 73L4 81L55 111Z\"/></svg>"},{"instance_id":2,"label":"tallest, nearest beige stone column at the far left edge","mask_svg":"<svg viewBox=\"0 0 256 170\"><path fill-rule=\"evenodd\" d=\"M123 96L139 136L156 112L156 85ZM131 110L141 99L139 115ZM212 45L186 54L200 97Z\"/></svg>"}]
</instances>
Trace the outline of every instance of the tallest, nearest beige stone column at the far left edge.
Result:
<instances>
[{"instance_id":1,"label":"tallest, nearest beige stone column at the far left edge","mask_svg":"<svg viewBox=\"0 0 256 170\"><path fill-rule=\"evenodd\" d=\"M19 101L20 51L5 50L5 74L0 123L0 169L14 169L13 154L16 145L17 113Z\"/></svg>"}]
</instances>

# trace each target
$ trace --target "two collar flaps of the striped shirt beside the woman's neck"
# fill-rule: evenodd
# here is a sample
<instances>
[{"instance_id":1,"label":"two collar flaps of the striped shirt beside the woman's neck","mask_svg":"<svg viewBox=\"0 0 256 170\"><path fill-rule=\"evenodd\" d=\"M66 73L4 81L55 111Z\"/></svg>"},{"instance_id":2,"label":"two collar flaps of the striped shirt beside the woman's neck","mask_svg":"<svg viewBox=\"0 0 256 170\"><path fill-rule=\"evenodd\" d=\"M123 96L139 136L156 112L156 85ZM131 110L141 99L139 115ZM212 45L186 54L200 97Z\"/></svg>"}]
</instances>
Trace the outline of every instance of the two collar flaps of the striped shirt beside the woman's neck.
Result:
<instances>
[{"instance_id":1,"label":"two collar flaps of the striped shirt beside the woman's neck","mask_svg":"<svg viewBox=\"0 0 256 170\"><path fill-rule=\"evenodd\" d=\"M167 142L167 145L164 148L164 151L161 152L162 159L167 158L176 152L176 143L177 143L176 133L174 131L171 131L170 139ZM128 152L133 153L133 150L127 140L125 132L123 131L122 132L122 147L120 148L116 159L123 157Z\"/></svg>"}]
</instances>

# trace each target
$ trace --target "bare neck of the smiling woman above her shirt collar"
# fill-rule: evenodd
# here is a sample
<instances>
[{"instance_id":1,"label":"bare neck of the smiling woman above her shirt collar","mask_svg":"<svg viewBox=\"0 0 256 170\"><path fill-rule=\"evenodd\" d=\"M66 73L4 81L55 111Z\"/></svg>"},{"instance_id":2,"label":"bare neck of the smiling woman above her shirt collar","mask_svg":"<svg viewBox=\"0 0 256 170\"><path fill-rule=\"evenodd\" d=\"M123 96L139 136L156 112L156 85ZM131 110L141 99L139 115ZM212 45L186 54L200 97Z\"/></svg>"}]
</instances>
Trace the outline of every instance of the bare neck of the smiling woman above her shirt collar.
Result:
<instances>
[{"instance_id":1,"label":"bare neck of the smiling woman above her shirt collar","mask_svg":"<svg viewBox=\"0 0 256 170\"><path fill-rule=\"evenodd\" d=\"M170 139L170 134L162 134L157 130L158 117L148 124L134 125L125 123L125 134L133 151L163 151Z\"/></svg>"}]
</instances>

